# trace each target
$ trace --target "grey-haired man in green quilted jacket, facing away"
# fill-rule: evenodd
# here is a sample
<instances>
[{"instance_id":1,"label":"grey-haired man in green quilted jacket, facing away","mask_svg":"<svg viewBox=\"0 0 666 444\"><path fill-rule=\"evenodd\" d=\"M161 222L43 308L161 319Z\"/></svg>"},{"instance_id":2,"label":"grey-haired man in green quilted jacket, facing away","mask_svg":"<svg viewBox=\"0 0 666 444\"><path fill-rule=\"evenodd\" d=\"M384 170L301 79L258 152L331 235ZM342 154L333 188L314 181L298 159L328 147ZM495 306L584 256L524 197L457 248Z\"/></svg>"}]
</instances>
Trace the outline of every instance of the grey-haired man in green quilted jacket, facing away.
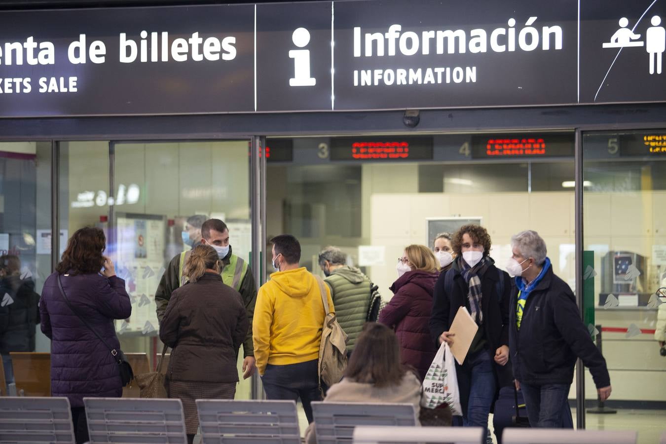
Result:
<instances>
[{"instance_id":1,"label":"grey-haired man in green quilted jacket, facing away","mask_svg":"<svg viewBox=\"0 0 666 444\"><path fill-rule=\"evenodd\" d=\"M319 253L319 266L326 275L324 282L330 287L338 323L347 333L347 354L351 355L366 322L372 284L361 270L347 265L347 255L340 248L324 248Z\"/></svg>"}]
</instances>

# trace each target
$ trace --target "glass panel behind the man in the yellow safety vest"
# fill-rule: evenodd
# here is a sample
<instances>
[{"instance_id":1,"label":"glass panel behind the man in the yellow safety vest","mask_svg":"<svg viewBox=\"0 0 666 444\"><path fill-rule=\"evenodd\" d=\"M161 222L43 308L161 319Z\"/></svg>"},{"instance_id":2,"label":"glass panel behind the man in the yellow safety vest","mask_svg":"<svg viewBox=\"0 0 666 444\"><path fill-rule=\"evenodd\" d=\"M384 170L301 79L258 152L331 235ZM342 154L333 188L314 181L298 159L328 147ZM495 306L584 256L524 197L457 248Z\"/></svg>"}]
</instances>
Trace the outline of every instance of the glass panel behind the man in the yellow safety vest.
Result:
<instances>
[{"instance_id":1,"label":"glass panel behind the man in the yellow safety vest","mask_svg":"<svg viewBox=\"0 0 666 444\"><path fill-rule=\"evenodd\" d=\"M110 154L109 243L133 300L117 331L124 351L148 353L155 365L162 349L155 293L172 258L200 242L202 222L224 221L232 253L251 265L248 140L113 142ZM236 399L250 399L242 348Z\"/></svg>"}]
</instances>

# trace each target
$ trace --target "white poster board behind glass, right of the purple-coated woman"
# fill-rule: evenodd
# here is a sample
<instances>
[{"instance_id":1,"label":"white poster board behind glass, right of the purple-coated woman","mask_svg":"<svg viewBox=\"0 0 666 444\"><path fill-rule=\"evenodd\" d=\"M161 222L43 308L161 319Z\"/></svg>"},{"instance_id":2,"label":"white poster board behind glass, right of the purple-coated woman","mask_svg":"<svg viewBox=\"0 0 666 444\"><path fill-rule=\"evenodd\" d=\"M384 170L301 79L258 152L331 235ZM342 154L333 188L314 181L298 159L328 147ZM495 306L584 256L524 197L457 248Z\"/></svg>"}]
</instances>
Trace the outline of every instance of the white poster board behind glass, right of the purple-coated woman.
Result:
<instances>
[{"instance_id":1,"label":"white poster board behind glass, right of the purple-coated woman","mask_svg":"<svg viewBox=\"0 0 666 444\"><path fill-rule=\"evenodd\" d=\"M165 267L165 216L119 213L115 232L116 271L132 303L132 316L119 321L118 332L157 335L155 290Z\"/></svg>"}]
</instances>

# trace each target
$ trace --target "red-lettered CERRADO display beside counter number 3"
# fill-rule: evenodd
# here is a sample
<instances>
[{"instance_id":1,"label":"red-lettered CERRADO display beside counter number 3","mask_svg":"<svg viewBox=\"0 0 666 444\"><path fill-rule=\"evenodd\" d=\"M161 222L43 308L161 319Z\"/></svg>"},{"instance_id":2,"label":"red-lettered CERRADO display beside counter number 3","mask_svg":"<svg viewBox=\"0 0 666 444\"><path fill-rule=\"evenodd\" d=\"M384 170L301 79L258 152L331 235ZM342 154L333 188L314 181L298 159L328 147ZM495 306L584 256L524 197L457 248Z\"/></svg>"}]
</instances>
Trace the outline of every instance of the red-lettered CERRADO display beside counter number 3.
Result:
<instances>
[{"instance_id":1,"label":"red-lettered CERRADO display beside counter number 3","mask_svg":"<svg viewBox=\"0 0 666 444\"><path fill-rule=\"evenodd\" d=\"M432 137L331 139L330 160L432 160Z\"/></svg>"}]
</instances>

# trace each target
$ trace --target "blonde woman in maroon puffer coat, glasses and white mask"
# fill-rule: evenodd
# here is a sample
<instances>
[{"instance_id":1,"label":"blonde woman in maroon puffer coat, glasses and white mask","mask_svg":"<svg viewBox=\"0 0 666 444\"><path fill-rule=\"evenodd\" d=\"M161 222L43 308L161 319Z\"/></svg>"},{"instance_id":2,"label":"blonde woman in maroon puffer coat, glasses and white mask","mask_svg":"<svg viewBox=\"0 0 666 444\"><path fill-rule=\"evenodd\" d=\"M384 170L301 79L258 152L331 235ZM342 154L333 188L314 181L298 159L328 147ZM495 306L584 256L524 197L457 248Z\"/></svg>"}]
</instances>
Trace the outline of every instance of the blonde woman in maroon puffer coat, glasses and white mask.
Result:
<instances>
[{"instance_id":1,"label":"blonde woman in maroon puffer coat, glasses and white mask","mask_svg":"<svg viewBox=\"0 0 666 444\"><path fill-rule=\"evenodd\" d=\"M405 248L396 270L398 280L390 288L394 296L378 322L394 329L402 363L414 367L423 381L437 352L428 322L439 270L435 256L423 245Z\"/></svg>"}]
</instances>

